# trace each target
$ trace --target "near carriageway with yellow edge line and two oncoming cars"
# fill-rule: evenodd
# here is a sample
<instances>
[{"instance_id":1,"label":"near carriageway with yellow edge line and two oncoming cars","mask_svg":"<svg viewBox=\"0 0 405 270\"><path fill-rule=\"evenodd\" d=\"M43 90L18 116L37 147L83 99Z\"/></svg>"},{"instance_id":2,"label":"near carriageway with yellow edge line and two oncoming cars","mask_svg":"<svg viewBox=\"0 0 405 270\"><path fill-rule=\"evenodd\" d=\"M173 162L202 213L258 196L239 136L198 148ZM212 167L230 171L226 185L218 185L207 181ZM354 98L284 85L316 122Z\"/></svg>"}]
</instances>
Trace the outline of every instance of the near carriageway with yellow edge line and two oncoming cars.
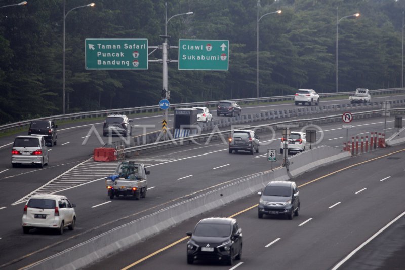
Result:
<instances>
[{"instance_id":1,"label":"near carriageway with yellow edge line and two oncoming cars","mask_svg":"<svg viewBox=\"0 0 405 270\"><path fill-rule=\"evenodd\" d=\"M258 219L259 196L252 195L187 220L86 269L403 269L403 159L403 146L384 149L297 177L301 209L293 220ZM352 165L356 166L350 168ZM399 221L372 239L400 215ZM233 267L186 262L185 232L193 230L198 220L212 216L236 218L242 228L244 252ZM370 243L345 260L366 241ZM334 268L339 262L342 265Z\"/></svg>"}]
</instances>

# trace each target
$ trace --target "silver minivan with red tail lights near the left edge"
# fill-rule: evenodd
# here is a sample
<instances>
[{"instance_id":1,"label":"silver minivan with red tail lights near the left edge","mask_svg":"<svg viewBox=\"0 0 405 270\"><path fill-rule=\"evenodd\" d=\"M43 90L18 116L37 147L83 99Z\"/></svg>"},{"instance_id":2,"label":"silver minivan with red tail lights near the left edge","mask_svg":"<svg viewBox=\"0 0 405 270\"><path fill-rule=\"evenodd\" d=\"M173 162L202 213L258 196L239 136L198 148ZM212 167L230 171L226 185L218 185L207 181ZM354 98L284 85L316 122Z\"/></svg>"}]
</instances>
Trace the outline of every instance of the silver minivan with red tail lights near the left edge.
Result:
<instances>
[{"instance_id":1,"label":"silver minivan with red tail lights near the left edge","mask_svg":"<svg viewBox=\"0 0 405 270\"><path fill-rule=\"evenodd\" d=\"M18 136L14 140L11 150L11 165L20 164L48 165L48 147L42 136Z\"/></svg>"}]
</instances>

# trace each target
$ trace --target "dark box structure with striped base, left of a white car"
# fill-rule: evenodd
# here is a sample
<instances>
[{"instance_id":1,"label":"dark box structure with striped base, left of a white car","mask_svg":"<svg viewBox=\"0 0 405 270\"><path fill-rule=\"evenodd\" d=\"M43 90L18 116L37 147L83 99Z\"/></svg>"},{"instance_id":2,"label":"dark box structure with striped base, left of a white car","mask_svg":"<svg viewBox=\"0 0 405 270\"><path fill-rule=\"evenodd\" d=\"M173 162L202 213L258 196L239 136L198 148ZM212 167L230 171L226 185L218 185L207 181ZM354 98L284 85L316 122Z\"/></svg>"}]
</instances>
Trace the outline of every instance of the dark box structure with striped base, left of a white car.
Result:
<instances>
[{"instance_id":1,"label":"dark box structure with striped base, left of a white car","mask_svg":"<svg viewBox=\"0 0 405 270\"><path fill-rule=\"evenodd\" d=\"M176 108L174 110L174 138L183 138L197 134L197 109Z\"/></svg>"}]
</instances>

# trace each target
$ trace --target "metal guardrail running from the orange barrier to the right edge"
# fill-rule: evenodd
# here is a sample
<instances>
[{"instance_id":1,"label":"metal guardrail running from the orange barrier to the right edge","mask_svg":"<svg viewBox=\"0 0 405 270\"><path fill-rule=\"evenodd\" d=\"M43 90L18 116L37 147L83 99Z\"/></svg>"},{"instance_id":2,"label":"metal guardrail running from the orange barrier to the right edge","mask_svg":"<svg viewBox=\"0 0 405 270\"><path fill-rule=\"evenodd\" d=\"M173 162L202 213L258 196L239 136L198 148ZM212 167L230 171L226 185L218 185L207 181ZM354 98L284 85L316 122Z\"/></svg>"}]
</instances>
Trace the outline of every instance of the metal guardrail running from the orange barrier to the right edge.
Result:
<instances>
[{"instance_id":1,"label":"metal guardrail running from the orange barrier to the right edge","mask_svg":"<svg viewBox=\"0 0 405 270\"><path fill-rule=\"evenodd\" d=\"M354 112L352 113L354 118L358 118L364 115L372 115L372 114L380 114L385 112L384 109L378 109L378 110L372 110L372 111L362 111L362 112ZM388 109L387 112L405 112L405 108L395 108L395 109ZM323 117L317 117L317 118L310 118L310 119L296 119L296 120L288 120L288 121L282 121L282 122L276 122L276 123L270 123L270 124L262 124L262 125L257 125L257 126L250 126L248 125L246 128L249 129L254 129L258 133L260 133L262 130L266 130L269 127L277 127L277 126L285 126L289 124L300 124L300 123L313 123L313 122L322 122L322 121L330 121L330 120L338 120L340 121L342 119L342 114L335 114L335 115L328 115L328 116L323 116ZM168 146L176 146L178 144L184 144L185 142L200 142L201 140L207 140L208 138L211 139L217 139L216 137L223 137L224 135L230 135L232 133L232 130L226 130L226 131L218 131L218 132L212 132L208 134L199 134L199 135L194 135L194 136L189 136L185 138L178 138L178 139L172 139L172 140L167 140L167 141L161 141L161 142L154 142L150 144L145 144L145 145L140 145L140 146L133 146L133 147L128 147L124 149L124 153L126 154L131 154L134 152L142 152L145 150L151 150L154 148L164 148Z\"/></svg>"}]
</instances>

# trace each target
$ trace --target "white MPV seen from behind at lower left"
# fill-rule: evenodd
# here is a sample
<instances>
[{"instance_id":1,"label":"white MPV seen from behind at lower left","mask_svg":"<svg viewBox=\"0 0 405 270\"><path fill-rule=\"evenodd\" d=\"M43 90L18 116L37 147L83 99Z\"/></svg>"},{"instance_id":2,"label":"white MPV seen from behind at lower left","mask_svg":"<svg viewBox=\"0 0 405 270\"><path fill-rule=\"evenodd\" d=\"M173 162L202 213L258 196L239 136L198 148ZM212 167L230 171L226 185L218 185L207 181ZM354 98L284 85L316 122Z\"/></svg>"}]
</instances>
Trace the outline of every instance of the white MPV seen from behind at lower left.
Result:
<instances>
[{"instance_id":1,"label":"white MPV seen from behind at lower left","mask_svg":"<svg viewBox=\"0 0 405 270\"><path fill-rule=\"evenodd\" d=\"M73 230L76 224L75 206L63 195L33 195L24 206L24 234L28 234L31 228L55 228L60 235L65 227Z\"/></svg>"}]
</instances>

